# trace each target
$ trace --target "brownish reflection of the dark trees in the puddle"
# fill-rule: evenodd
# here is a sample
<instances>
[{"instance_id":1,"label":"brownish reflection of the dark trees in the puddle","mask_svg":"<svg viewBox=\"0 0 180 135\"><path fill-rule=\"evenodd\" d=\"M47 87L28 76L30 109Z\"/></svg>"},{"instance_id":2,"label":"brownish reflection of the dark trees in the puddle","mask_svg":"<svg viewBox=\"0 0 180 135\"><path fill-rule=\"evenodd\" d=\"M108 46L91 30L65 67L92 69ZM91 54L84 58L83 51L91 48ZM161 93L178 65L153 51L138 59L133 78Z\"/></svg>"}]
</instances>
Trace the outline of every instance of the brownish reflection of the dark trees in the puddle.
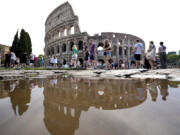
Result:
<instances>
[{"instance_id":1,"label":"brownish reflection of the dark trees in the puddle","mask_svg":"<svg viewBox=\"0 0 180 135\"><path fill-rule=\"evenodd\" d=\"M21 80L20 85L14 89L14 91L9 93L9 97L12 103L12 108L14 113L22 115L28 109L28 104L30 103L31 91L29 84L26 81Z\"/></svg>"}]
</instances>

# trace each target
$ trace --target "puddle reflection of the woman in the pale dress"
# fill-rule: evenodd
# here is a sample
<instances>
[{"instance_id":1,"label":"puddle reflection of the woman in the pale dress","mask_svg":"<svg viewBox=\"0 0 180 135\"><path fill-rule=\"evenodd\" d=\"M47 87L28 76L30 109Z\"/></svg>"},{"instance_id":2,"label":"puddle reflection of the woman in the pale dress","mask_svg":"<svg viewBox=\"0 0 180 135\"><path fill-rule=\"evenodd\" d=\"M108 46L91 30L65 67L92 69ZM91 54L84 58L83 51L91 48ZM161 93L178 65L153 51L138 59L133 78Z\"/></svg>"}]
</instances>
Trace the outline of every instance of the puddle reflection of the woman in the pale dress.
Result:
<instances>
[{"instance_id":1,"label":"puddle reflection of the woman in the pale dress","mask_svg":"<svg viewBox=\"0 0 180 135\"><path fill-rule=\"evenodd\" d=\"M149 90L150 92L150 95L151 95L151 98L152 98L152 101L156 101L157 100L157 97L158 97L158 90L157 90L157 83L155 80L153 79L148 79L146 80L146 84L147 84L147 89Z\"/></svg>"}]
</instances>

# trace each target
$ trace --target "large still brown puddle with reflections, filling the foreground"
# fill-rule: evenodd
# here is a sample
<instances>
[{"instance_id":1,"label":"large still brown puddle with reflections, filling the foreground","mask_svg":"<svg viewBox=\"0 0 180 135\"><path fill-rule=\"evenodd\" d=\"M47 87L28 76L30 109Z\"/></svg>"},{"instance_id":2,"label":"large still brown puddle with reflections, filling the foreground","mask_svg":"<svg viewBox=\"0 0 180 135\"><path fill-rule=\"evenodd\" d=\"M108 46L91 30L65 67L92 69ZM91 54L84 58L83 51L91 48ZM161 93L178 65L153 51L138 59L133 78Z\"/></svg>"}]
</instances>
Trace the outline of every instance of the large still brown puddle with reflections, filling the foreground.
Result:
<instances>
[{"instance_id":1,"label":"large still brown puddle with reflections, filling the foreground","mask_svg":"<svg viewBox=\"0 0 180 135\"><path fill-rule=\"evenodd\" d=\"M0 135L179 135L180 82L0 81Z\"/></svg>"}]
</instances>

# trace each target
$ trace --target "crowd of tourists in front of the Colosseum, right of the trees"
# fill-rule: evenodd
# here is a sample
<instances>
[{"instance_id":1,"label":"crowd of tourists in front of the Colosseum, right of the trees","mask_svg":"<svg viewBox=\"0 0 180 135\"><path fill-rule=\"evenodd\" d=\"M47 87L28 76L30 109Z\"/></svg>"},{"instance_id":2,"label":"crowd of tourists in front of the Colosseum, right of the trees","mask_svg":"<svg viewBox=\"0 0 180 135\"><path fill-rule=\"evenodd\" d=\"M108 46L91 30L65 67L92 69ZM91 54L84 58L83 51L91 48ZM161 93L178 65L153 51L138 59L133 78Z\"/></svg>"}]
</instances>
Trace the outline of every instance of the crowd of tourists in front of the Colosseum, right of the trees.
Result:
<instances>
[{"instance_id":1,"label":"crowd of tourists in front of the Colosseum, right of the trees","mask_svg":"<svg viewBox=\"0 0 180 135\"><path fill-rule=\"evenodd\" d=\"M72 47L72 59L70 63L62 63L58 61L56 56L50 58L50 65L52 67L85 67L85 68L105 68L105 69L135 69L135 68L147 68L147 69L156 69L156 68L166 68L166 47L163 42L160 42L158 47L158 53L156 53L156 46L153 41L150 41L148 51L144 54L144 46L140 43L139 40L136 40L136 43L133 47L133 54L130 56L130 59L119 60L118 63L115 63L111 58L112 46L108 39L103 43L103 55L104 63L97 61L97 46L93 39L90 39L88 42L84 42L84 63L80 63L78 59L78 49L77 45ZM144 58L142 58L144 57ZM142 60L144 60L142 62Z\"/></svg>"}]
</instances>

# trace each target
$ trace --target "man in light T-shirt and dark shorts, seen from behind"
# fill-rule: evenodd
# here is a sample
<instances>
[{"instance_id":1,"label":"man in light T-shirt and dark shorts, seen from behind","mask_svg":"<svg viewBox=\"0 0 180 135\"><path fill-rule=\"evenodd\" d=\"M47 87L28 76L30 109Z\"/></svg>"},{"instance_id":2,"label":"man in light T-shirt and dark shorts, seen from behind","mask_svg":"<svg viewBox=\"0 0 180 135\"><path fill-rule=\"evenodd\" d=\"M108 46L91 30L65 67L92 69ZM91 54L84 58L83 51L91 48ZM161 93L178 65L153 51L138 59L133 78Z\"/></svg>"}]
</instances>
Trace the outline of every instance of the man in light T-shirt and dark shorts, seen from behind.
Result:
<instances>
[{"instance_id":1,"label":"man in light T-shirt and dark shorts, seen from behind","mask_svg":"<svg viewBox=\"0 0 180 135\"><path fill-rule=\"evenodd\" d=\"M139 40L136 40L136 44L134 45L134 57L136 60L136 68L139 68L139 66L140 66L142 49L143 49L142 43L140 43Z\"/></svg>"}]
</instances>

